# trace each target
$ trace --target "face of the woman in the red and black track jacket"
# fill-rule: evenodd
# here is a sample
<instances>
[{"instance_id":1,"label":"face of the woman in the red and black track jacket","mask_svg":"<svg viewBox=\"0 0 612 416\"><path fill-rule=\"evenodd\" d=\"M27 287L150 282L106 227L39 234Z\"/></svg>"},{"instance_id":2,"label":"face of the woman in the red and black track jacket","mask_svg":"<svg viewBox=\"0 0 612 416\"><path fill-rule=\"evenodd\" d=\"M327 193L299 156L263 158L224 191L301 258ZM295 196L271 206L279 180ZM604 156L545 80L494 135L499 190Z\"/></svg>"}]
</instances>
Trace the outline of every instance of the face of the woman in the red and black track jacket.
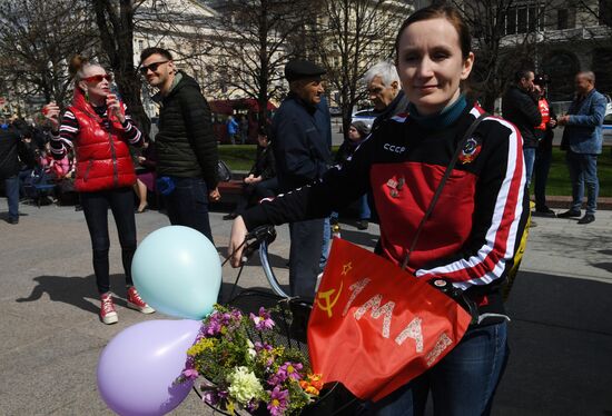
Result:
<instances>
[{"instance_id":1,"label":"face of the woman in the red and black track jacket","mask_svg":"<svg viewBox=\"0 0 612 416\"><path fill-rule=\"evenodd\" d=\"M397 73L421 115L441 111L456 99L473 63L474 53L462 57L458 33L444 18L414 22L399 38Z\"/></svg>"}]
</instances>

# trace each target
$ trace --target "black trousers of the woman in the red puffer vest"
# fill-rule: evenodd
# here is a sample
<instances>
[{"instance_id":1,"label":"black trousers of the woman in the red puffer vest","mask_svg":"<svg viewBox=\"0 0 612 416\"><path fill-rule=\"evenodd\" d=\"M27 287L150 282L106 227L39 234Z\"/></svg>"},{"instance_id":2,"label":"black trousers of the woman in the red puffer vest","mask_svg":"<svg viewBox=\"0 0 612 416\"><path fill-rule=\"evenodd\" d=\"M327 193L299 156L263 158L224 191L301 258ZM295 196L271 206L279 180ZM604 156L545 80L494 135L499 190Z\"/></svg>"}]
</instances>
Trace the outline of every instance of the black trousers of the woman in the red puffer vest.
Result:
<instances>
[{"instance_id":1,"label":"black trousers of the woman in the red puffer vest","mask_svg":"<svg viewBox=\"0 0 612 416\"><path fill-rule=\"evenodd\" d=\"M132 285L131 259L136 251L136 220L134 217L134 191L131 188L81 192L81 206L91 237L93 249L93 273L98 291L110 290L108 249L108 208L112 211L119 242L121 244L121 260L126 274L126 285Z\"/></svg>"}]
</instances>

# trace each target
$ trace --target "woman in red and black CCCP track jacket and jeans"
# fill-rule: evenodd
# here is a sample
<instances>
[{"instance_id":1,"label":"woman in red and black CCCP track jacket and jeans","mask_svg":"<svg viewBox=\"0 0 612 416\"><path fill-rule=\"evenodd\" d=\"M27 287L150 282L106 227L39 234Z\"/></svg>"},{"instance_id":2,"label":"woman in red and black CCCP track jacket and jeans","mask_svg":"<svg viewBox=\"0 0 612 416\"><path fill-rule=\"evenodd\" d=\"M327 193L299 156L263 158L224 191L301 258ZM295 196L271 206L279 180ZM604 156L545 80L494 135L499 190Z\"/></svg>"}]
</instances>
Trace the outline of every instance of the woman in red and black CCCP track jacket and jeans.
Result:
<instances>
[{"instance_id":1,"label":"woman in red and black CCCP track jacket and jeans","mask_svg":"<svg viewBox=\"0 0 612 416\"><path fill-rule=\"evenodd\" d=\"M474 53L455 9L416 11L401 27L395 47L407 112L373 131L342 170L236 218L229 252L238 266L241 248L236 248L247 229L324 217L372 190L381 220L377 252L416 278L452 281L478 310L477 323L447 356L369 412L421 415L431 392L436 415L488 414L507 358L500 285L527 214L521 136L463 96ZM437 204L422 221L438 188Z\"/></svg>"}]
</instances>

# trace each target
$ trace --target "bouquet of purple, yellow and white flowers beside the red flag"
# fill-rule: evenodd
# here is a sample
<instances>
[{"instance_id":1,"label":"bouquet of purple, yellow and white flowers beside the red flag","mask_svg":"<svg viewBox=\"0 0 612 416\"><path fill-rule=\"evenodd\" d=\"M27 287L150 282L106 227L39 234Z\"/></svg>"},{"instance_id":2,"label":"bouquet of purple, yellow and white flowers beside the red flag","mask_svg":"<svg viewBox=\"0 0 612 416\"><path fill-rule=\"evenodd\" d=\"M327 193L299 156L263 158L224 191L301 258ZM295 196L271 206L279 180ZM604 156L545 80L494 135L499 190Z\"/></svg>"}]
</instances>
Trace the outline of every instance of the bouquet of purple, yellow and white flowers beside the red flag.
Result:
<instances>
[{"instance_id":1,"label":"bouquet of purple, yellow and white flowers beside the red flag","mask_svg":"<svg viewBox=\"0 0 612 416\"><path fill-rule=\"evenodd\" d=\"M308 358L282 341L272 318L216 305L205 318L186 368L177 382L203 377L204 402L237 414L299 414L319 396L320 375L310 373Z\"/></svg>"}]
</instances>

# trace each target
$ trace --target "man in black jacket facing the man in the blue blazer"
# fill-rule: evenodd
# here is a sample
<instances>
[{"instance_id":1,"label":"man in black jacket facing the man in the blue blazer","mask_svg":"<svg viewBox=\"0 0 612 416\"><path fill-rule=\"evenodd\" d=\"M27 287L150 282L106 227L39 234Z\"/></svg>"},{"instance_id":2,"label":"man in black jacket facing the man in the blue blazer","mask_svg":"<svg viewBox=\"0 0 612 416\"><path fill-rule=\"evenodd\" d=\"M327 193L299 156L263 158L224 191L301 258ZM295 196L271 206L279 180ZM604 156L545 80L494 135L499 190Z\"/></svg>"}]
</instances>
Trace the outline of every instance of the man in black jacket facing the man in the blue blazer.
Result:
<instances>
[{"instance_id":1,"label":"man in black jacket facing the man in the blue blazer","mask_svg":"<svg viewBox=\"0 0 612 416\"><path fill-rule=\"evenodd\" d=\"M535 149L539 142L535 127L542 122L542 115L537 108L537 95L534 93L534 78L535 76L531 70L516 71L514 75L514 85L510 86L502 98L503 117L516 126L523 137L523 156L525 158L525 180L527 187L531 182Z\"/></svg>"}]
</instances>

